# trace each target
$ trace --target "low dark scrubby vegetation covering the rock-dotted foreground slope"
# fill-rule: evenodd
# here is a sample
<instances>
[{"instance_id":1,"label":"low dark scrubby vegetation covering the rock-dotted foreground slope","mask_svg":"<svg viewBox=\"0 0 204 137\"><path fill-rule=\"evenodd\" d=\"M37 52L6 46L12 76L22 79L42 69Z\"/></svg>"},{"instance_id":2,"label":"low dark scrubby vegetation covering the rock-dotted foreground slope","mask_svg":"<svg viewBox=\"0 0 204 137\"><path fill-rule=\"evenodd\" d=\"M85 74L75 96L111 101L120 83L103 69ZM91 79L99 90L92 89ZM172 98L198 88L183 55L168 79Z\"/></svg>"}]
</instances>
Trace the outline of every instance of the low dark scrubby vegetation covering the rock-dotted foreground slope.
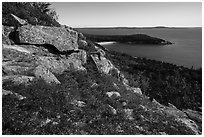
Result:
<instances>
[{"instance_id":1,"label":"low dark scrubby vegetation covering the rock-dotted foreground slope","mask_svg":"<svg viewBox=\"0 0 204 137\"><path fill-rule=\"evenodd\" d=\"M174 118L160 113L145 96L127 91L115 77L97 73L93 62L88 64L87 73L73 70L58 75L61 85L42 80L28 86L4 83L3 89L24 99L14 94L3 96L3 134L192 134ZM110 91L121 96L110 98L106 94ZM125 117L124 109L133 110L131 120Z\"/></svg>"}]
</instances>

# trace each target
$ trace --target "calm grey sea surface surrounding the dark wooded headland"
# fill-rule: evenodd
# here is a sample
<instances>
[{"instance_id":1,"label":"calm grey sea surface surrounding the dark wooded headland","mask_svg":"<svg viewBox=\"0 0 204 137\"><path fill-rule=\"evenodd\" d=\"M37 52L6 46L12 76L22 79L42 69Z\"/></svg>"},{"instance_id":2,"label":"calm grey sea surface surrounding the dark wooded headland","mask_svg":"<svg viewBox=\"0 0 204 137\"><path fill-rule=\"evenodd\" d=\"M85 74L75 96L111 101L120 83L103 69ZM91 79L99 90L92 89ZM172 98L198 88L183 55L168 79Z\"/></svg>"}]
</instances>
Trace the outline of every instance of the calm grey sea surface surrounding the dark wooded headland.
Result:
<instances>
[{"instance_id":1,"label":"calm grey sea surface surrounding the dark wooded headland","mask_svg":"<svg viewBox=\"0 0 204 137\"><path fill-rule=\"evenodd\" d=\"M147 34L171 41L173 45L106 44L109 50L146 57L186 67L202 67L202 28L154 29L77 29L82 33L100 35Z\"/></svg>"}]
</instances>

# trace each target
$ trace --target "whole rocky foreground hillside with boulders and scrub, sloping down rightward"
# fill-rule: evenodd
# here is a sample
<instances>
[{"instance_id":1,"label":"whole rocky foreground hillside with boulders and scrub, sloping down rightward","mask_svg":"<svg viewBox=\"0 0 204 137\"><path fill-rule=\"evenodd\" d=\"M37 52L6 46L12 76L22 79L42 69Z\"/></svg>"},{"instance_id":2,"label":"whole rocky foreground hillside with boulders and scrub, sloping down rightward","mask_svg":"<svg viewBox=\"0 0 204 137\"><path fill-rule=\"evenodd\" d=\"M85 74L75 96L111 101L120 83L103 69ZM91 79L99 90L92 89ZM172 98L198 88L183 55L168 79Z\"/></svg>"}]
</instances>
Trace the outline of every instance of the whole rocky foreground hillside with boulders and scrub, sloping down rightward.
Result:
<instances>
[{"instance_id":1,"label":"whole rocky foreground hillside with boulders and scrub, sloping down rightward","mask_svg":"<svg viewBox=\"0 0 204 137\"><path fill-rule=\"evenodd\" d=\"M201 134L200 112L129 86L83 34L19 24L2 27L3 134Z\"/></svg>"}]
</instances>

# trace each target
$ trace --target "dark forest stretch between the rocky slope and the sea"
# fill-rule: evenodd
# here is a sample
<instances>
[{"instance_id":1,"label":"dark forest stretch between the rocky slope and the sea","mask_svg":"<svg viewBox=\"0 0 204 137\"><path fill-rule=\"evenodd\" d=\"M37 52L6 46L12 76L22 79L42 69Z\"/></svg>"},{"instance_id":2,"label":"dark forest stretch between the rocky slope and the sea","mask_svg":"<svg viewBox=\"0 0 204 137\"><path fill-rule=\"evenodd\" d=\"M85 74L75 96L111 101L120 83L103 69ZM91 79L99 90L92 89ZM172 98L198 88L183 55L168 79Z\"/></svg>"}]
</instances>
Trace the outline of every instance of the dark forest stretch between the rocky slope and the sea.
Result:
<instances>
[{"instance_id":1,"label":"dark forest stretch between the rocky slope and the sea","mask_svg":"<svg viewBox=\"0 0 204 137\"><path fill-rule=\"evenodd\" d=\"M113 51L109 52L108 58L126 74L130 85L140 87L145 95L164 105L174 104L181 110L190 108L201 111L201 68L188 69Z\"/></svg>"}]
</instances>

